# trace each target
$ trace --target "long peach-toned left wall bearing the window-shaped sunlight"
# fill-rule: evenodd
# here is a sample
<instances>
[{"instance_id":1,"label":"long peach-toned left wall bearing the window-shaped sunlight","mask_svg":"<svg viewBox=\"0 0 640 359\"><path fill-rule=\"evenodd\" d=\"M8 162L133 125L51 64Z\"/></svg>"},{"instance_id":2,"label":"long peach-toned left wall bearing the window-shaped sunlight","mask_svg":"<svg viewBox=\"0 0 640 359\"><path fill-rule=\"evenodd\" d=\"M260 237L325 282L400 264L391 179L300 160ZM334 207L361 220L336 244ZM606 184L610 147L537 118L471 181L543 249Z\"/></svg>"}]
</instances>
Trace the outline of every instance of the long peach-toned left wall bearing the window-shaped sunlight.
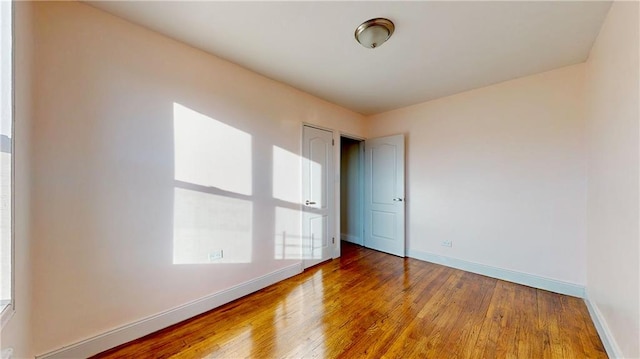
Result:
<instances>
[{"instance_id":1,"label":"long peach-toned left wall bearing the window-shaped sunlight","mask_svg":"<svg viewBox=\"0 0 640 359\"><path fill-rule=\"evenodd\" d=\"M299 209L301 124L362 135L361 115L81 3L33 6L36 354L300 262L274 237L299 234L279 213ZM173 264L184 218L229 231L236 263Z\"/></svg>"}]
</instances>

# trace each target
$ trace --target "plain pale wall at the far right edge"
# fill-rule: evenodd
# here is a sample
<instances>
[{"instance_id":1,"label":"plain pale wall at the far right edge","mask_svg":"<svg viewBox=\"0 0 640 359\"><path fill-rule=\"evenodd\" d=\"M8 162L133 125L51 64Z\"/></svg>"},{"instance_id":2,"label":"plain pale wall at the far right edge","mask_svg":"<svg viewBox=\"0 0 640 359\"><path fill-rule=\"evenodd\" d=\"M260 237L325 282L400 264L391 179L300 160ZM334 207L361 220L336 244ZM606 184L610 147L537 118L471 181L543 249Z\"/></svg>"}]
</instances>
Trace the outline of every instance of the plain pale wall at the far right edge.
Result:
<instances>
[{"instance_id":1,"label":"plain pale wall at the far right edge","mask_svg":"<svg viewBox=\"0 0 640 359\"><path fill-rule=\"evenodd\" d=\"M624 358L640 357L639 8L613 3L586 65L587 294Z\"/></svg>"}]
</instances>

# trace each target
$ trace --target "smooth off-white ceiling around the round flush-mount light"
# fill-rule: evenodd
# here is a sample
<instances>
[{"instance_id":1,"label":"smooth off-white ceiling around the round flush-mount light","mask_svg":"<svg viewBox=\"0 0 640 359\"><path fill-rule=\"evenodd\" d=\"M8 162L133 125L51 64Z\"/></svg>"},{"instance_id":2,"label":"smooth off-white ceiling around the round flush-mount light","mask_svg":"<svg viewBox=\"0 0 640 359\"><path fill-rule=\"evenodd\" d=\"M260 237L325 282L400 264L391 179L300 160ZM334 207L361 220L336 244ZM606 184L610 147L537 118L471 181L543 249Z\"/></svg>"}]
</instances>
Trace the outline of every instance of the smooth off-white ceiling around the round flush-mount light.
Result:
<instances>
[{"instance_id":1,"label":"smooth off-white ceiling around the round flush-mount light","mask_svg":"<svg viewBox=\"0 0 640 359\"><path fill-rule=\"evenodd\" d=\"M583 62L611 2L90 1L365 115ZM367 49L356 27L396 26Z\"/></svg>"}]
</instances>

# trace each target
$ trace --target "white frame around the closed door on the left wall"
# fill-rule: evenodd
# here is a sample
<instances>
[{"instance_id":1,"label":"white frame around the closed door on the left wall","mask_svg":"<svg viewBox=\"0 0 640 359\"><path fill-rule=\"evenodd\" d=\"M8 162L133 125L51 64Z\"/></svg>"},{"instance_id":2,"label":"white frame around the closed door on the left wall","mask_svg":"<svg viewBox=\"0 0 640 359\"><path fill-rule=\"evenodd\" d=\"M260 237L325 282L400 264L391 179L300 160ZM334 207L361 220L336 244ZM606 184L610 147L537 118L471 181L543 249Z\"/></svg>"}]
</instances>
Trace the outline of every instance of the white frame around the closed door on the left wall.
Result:
<instances>
[{"instance_id":1,"label":"white frame around the closed door on the left wall","mask_svg":"<svg viewBox=\"0 0 640 359\"><path fill-rule=\"evenodd\" d=\"M323 131L328 131L331 132L331 140L332 140L332 148L333 148L333 208L330 208L329 210L329 233L330 233L330 237L332 238L332 243L331 243L331 259L335 259L340 257L340 236L339 236L339 232L338 232L338 236L336 237L336 231L340 230L340 224L336 223L336 219L339 219L339 217L336 217L336 213L340 213L340 176L339 176L339 172L340 172L340 163L336 163L336 157L339 160L339 156L340 156L340 151L337 151L338 153L336 154L336 142L339 142L340 137L338 137L338 141L336 141L336 134L338 134L339 136L339 132L335 129L329 128L329 127L324 127L324 126L319 126L310 122L302 122L301 126L300 126L300 170L303 171L304 170L304 165L302 163L302 161L304 161L304 157L303 157L303 153L304 153L304 128L305 127L312 127L318 130L323 130ZM337 168L336 168L337 166ZM300 176L300 180L302 181L302 173ZM336 181L338 183L338 185L336 186ZM338 188L336 188L338 187ZM302 215L302 212L304 211L304 204L302 203L304 201L304 183L302 184L302 186L300 186L300 213ZM332 195L331 193L328 194L329 196ZM337 208L337 209L336 209ZM301 223L302 224L302 223ZM336 240L336 238L338 238L338 240ZM336 250L337 248L337 250ZM301 260L301 264L302 264L302 269L304 270L305 268L305 259L302 258Z\"/></svg>"}]
</instances>

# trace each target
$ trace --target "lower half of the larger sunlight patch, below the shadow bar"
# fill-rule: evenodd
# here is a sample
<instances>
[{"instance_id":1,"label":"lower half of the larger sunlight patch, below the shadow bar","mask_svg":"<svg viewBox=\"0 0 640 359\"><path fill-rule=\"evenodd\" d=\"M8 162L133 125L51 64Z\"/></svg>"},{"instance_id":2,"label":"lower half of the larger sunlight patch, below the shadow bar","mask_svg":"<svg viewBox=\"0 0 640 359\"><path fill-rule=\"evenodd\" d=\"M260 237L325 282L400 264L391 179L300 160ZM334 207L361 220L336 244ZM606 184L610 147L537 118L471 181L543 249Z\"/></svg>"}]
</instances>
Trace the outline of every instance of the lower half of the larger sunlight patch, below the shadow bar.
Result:
<instances>
[{"instance_id":1,"label":"lower half of the larger sunlight patch, below the shadow bar","mask_svg":"<svg viewBox=\"0 0 640 359\"><path fill-rule=\"evenodd\" d=\"M175 188L173 263L251 262L252 207L246 200Z\"/></svg>"}]
</instances>

